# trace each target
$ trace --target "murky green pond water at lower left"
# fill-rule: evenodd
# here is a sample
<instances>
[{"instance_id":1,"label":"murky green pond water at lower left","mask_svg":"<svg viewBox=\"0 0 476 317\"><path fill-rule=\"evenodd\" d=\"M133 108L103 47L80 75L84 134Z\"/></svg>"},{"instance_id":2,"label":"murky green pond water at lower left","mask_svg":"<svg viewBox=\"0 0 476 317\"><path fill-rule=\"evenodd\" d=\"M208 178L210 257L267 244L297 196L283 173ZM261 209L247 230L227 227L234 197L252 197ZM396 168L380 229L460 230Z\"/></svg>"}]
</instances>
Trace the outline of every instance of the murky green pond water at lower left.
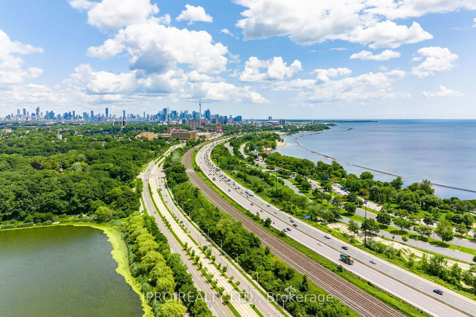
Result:
<instances>
[{"instance_id":1,"label":"murky green pond water at lower left","mask_svg":"<svg viewBox=\"0 0 476 317\"><path fill-rule=\"evenodd\" d=\"M91 227L0 231L0 316L142 316L107 239Z\"/></svg>"}]
</instances>

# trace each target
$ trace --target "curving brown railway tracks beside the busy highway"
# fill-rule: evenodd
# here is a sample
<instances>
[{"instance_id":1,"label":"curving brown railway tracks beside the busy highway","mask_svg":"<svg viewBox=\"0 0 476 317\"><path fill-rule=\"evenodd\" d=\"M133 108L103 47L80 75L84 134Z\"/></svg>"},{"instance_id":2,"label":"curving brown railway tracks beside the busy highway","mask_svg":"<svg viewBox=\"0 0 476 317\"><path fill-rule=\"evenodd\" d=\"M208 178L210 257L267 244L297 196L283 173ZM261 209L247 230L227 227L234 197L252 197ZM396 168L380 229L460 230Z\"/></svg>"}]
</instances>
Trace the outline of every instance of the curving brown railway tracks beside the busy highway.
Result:
<instances>
[{"instance_id":1,"label":"curving brown railway tracks beside the busy highway","mask_svg":"<svg viewBox=\"0 0 476 317\"><path fill-rule=\"evenodd\" d=\"M220 210L227 212L236 220L241 221L248 231L254 232L261 239L262 244L268 246L278 258L288 263L301 274L306 274L308 279L317 284L320 288L332 294L335 298L340 299L348 307L364 317L405 316L289 246L286 242L278 239L259 226L255 221L249 219L241 211L238 211L235 207L230 205L193 170L191 157L199 146L201 145L189 150L184 154L182 159L182 163L186 166L191 183L197 186L203 195Z\"/></svg>"}]
</instances>

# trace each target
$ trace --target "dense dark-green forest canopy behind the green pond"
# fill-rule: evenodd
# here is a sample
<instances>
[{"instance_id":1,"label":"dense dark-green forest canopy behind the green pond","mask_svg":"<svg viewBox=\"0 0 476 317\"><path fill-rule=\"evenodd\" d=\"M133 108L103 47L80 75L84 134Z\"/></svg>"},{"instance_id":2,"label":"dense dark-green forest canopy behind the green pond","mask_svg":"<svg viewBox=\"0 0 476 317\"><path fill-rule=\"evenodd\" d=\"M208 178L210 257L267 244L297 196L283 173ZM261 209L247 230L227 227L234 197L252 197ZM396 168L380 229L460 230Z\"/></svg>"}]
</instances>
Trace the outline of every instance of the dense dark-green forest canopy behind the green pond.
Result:
<instances>
[{"instance_id":1,"label":"dense dark-green forest canopy behind the green pond","mask_svg":"<svg viewBox=\"0 0 476 317\"><path fill-rule=\"evenodd\" d=\"M147 128L17 127L0 139L0 221L55 220L106 205L114 218L139 210L140 167L170 146L163 139L135 138Z\"/></svg>"}]
</instances>

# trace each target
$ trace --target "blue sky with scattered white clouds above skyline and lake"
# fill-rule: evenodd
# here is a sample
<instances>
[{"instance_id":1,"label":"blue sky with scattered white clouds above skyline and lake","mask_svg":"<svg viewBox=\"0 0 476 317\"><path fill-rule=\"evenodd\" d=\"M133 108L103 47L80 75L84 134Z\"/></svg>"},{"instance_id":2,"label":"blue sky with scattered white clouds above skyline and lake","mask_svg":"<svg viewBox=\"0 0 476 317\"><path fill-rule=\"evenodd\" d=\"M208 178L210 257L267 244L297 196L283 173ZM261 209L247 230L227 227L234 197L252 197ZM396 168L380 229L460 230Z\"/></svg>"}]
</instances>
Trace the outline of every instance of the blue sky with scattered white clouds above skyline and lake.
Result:
<instances>
[{"instance_id":1,"label":"blue sky with scattered white clouds above skyline and lake","mask_svg":"<svg viewBox=\"0 0 476 317\"><path fill-rule=\"evenodd\" d=\"M244 118L476 118L475 18L475 0L2 1L0 115L201 96Z\"/></svg>"}]
</instances>

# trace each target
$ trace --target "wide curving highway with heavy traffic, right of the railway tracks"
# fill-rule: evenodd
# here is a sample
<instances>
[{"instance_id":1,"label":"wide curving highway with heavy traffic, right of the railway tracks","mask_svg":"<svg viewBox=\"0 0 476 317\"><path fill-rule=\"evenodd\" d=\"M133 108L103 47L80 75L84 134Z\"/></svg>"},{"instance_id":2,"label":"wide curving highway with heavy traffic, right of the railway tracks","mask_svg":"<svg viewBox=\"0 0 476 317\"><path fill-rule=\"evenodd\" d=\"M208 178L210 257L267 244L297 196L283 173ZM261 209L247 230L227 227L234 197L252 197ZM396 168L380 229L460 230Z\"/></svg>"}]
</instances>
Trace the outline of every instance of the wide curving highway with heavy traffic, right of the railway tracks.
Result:
<instances>
[{"instance_id":1,"label":"wide curving highway with heavy traffic, right of the railway tracks","mask_svg":"<svg viewBox=\"0 0 476 317\"><path fill-rule=\"evenodd\" d=\"M215 142L213 143L215 144ZM360 250L358 248L347 245L347 243L332 238L330 240L324 238L325 232L320 231L310 225L307 225L303 221L294 219L294 223L297 224L297 228L292 226L289 215L279 211L274 206L267 206L268 203L259 198L258 196L246 197L245 189L238 189L239 185L230 186L223 178L219 177L219 173L215 173L214 169L207 165L205 156L209 155L209 150L212 145L204 146L197 154L196 161L202 168L208 178L211 180L216 177L214 182L223 192L225 192L235 202L238 202L244 208L250 210L253 213L260 212L260 217L266 219L270 217L274 221L274 227L282 230L283 228L292 228L292 231L288 232L288 235L309 247L311 250L315 250L317 253L325 256L328 259L333 260L336 263L342 263L339 260L341 246L349 247L347 254L353 256L356 260L355 265L348 266L346 269L351 270L358 276L371 281L378 287L387 290L389 293L402 298L403 300L411 303L412 305L419 307L433 316L473 316L476 314L475 302L465 296L457 294L449 289L443 288L436 283L420 278L417 275L408 272L405 269L401 269L396 265L390 264L383 260L378 260L377 264L370 264L369 261L374 259L369 253ZM212 166L214 166L212 164ZM211 175L208 175L211 174ZM219 181L221 179L221 182ZM232 182L231 182L232 183ZM235 187L237 189L235 189ZM230 190L228 192L228 190ZM253 203L253 205L251 205ZM324 246L317 245L320 241ZM439 296L433 292L433 289L443 289L444 295ZM456 307L458 310L450 307Z\"/></svg>"}]
</instances>

